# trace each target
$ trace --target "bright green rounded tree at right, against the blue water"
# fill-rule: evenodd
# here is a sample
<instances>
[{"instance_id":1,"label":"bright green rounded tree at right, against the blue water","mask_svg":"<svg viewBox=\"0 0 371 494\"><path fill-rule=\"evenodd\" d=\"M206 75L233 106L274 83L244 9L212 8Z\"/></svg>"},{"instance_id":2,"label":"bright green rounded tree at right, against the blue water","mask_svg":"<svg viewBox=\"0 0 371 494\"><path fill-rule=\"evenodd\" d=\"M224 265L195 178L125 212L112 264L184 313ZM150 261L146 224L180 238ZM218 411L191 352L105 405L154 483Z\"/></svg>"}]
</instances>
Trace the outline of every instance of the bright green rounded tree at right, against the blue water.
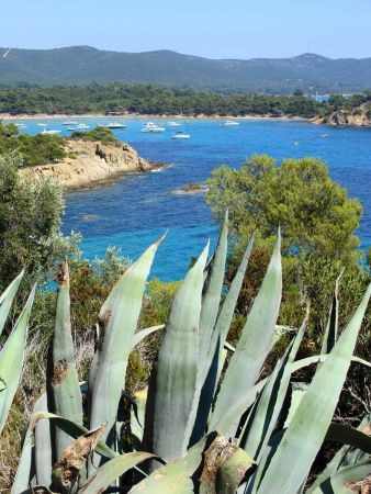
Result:
<instances>
[{"instance_id":1,"label":"bright green rounded tree at right, against the blue water","mask_svg":"<svg viewBox=\"0 0 371 494\"><path fill-rule=\"evenodd\" d=\"M269 156L254 156L239 170L214 170L207 187L213 214L221 222L228 209L243 244L255 231L267 242L281 226L286 256L324 256L344 263L360 256L355 232L362 207L319 159L284 159L278 166Z\"/></svg>"}]
</instances>

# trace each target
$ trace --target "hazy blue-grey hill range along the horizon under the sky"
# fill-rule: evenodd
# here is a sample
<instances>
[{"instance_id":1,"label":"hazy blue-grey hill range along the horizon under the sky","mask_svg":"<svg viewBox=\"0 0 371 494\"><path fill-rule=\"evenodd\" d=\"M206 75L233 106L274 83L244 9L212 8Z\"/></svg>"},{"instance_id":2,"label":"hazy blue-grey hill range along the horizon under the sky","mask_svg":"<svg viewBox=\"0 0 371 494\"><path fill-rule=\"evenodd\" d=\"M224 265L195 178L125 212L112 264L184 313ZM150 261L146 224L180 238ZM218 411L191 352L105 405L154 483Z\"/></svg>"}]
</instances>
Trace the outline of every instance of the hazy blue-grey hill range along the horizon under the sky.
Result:
<instances>
[{"instance_id":1,"label":"hazy blue-grey hill range along the horizon under the sky","mask_svg":"<svg viewBox=\"0 0 371 494\"><path fill-rule=\"evenodd\" d=\"M0 48L0 85L142 82L218 91L353 92L371 86L371 58L207 59L170 50L119 53L89 46Z\"/></svg>"}]
</instances>

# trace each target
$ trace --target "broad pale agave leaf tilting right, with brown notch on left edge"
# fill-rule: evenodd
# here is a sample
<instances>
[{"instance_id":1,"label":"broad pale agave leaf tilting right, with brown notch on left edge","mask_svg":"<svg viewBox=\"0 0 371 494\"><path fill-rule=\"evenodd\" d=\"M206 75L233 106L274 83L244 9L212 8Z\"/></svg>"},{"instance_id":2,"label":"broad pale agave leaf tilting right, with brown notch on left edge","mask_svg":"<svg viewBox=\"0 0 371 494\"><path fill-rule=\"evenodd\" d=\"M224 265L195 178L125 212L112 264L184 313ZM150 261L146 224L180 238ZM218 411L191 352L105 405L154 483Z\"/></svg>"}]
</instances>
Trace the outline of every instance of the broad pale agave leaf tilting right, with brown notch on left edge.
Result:
<instances>
[{"instance_id":1,"label":"broad pale agave leaf tilting right, with brown notch on left edge","mask_svg":"<svg viewBox=\"0 0 371 494\"><path fill-rule=\"evenodd\" d=\"M104 302L99 319L102 325L99 360L91 390L90 428L108 422L103 438L114 441L114 422L121 398L127 360L142 308L146 280L161 237L120 278Z\"/></svg>"}]
</instances>

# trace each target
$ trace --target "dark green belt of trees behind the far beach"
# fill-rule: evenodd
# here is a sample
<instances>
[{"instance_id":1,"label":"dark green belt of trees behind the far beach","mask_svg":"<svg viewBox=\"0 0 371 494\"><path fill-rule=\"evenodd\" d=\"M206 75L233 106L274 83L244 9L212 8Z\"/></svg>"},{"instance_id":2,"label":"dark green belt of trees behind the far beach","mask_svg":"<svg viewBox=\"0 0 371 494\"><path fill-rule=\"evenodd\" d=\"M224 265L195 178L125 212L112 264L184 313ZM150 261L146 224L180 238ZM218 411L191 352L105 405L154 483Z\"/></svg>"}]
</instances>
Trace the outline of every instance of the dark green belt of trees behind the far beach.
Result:
<instances>
[{"instance_id":1,"label":"dark green belt of trees behind the far beach","mask_svg":"<svg viewBox=\"0 0 371 494\"><path fill-rule=\"evenodd\" d=\"M0 113L83 114L128 112L184 115L325 116L338 109L356 110L371 101L364 91L351 98L333 96L317 102L297 90L292 96L215 94L193 89L150 85L97 85L83 87L0 89Z\"/></svg>"}]
</instances>

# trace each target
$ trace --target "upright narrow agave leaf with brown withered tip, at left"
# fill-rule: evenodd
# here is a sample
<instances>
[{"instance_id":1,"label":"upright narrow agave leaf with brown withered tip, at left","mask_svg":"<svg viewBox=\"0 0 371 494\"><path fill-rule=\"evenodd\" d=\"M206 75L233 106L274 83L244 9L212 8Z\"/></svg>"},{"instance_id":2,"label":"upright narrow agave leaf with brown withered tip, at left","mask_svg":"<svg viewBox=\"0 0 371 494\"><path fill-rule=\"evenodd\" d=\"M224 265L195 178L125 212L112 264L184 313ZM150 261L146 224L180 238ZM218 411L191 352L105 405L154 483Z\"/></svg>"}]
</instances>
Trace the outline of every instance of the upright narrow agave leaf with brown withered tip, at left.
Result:
<instances>
[{"instance_id":1,"label":"upright narrow agave leaf with brown withered tip, at left","mask_svg":"<svg viewBox=\"0 0 371 494\"><path fill-rule=\"evenodd\" d=\"M63 262L58 271L57 297L53 336L53 374L48 377L53 393L53 412L82 425L82 395L75 367L75 351L70 323L69 273ZM55 458L70 446L71 438L59 428L55 430Z\"/></svg>"}]
</instances>

